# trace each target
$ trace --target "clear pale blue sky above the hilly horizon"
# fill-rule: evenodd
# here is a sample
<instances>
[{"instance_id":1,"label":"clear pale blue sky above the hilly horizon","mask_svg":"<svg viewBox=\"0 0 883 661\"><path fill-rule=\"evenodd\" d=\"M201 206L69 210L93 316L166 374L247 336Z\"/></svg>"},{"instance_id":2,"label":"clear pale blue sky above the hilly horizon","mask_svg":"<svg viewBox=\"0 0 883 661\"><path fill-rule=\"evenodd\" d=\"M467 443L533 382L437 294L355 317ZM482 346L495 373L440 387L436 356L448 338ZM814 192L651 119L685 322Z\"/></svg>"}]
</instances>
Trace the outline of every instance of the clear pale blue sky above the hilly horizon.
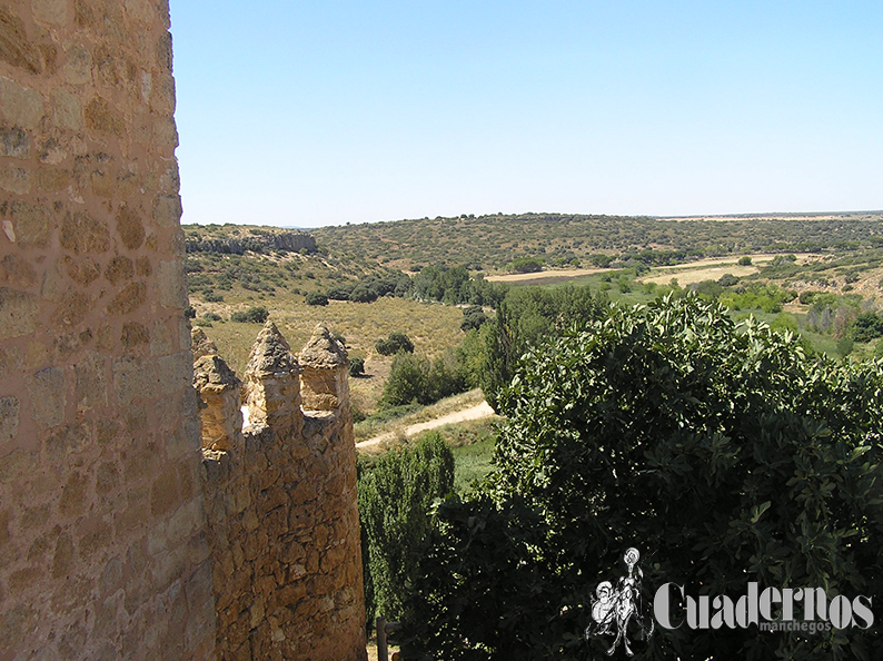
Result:
<instances>
[{"instance_id":1,"label":"clear pale blue sky above the hilly horizon","mask_svg":"<svg viewBox=\"0 0 883 661\"><path fill-rule=\"evenodd\" d=\"M185 223L883 208L880 0L171 0Z\"/></svg>"}]
</instances>

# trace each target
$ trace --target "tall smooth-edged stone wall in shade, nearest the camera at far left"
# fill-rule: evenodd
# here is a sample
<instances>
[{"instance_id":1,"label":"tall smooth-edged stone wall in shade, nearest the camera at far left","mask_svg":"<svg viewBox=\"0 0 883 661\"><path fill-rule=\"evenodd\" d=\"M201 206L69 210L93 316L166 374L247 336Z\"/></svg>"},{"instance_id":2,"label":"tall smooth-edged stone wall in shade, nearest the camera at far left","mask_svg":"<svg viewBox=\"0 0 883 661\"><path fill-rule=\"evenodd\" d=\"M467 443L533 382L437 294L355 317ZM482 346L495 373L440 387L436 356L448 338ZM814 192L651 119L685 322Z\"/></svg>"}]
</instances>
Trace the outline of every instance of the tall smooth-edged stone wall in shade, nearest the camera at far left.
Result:
<instances>
[{"instance_id":1,"label":"tall smooth-edged stone wall in shade, nearest the camera at far left","mask_svg":"<svg viewBox=\"0 0 883 661\"><path fill-rule=\"evenodd\" d=\"M0 4L0 661L215 645L168 27Z\"/></svg>"}]
</instances>

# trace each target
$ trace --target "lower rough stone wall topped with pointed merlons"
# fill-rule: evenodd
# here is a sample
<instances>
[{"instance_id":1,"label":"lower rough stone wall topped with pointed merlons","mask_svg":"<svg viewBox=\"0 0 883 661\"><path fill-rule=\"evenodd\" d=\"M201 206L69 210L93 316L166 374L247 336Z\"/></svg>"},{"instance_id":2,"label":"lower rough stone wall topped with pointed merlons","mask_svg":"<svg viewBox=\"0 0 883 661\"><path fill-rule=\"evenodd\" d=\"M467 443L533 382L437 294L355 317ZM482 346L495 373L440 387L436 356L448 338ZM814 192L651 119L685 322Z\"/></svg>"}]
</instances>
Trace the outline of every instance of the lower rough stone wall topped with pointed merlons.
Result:
<instances>
[{"instance_id":1,"label":"lower rough stone wall topped with pointed merlons","mask_svg":"<svg viewBox=\"0 0 883 661\"><path fill-rule=\"evenodd\" d=\"M197 335L195 346L206 347ZM346 354L317 328L300 361L272 323L241 382L214 347L196 362L218 658L365 658L356 450ZM339 384L320 411L300 408L307 375ZM305 397L305 406L311 401Z\"/></svg>"}]
</instances>

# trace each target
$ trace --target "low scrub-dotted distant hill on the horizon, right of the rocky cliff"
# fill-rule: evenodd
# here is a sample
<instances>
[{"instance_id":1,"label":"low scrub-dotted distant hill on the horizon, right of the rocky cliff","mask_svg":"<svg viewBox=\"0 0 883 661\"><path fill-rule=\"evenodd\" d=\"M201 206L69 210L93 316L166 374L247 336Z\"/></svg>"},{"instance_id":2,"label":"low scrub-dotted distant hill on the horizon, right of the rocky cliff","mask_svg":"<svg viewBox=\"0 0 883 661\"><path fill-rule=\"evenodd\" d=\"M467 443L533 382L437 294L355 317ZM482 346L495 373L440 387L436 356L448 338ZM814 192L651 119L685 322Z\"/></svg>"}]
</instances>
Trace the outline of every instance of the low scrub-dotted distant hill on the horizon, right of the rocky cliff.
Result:
<instances>
[{"instance_id":1,"label":"low scrub-dotted distant hill on the horizon, right of the rocky cliff","mask_svg":"<svg viewBox=\"0 0 883 661\"><path fill-rule=\"evenodd\" d=\"M310 231L335 254L387 267L462 264L504 269L538 257L550 266L585 263L593 255L644 250L676 253L675 260L743 253L818 253L872 247L883 238L883 214L763 217L652 218L520 214L423 218L323 227Z\"/></svg>"}]
</instances>

